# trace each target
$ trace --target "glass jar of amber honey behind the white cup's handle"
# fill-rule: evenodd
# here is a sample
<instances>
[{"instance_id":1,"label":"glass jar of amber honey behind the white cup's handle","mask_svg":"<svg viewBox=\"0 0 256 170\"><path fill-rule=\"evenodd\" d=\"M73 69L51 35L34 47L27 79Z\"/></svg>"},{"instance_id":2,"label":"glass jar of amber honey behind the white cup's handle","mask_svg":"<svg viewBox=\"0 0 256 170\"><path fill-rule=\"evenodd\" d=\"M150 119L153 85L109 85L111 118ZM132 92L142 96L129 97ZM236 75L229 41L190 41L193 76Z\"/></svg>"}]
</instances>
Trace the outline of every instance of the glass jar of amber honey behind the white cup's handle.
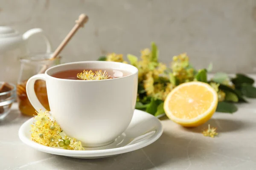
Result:
<instances>
[{"instance_id":1,"label":"glass jar of amber honey behind the white cup's handle","mask_svg":"<svg viewBox=\"0 0 256 170\"><path fill-rule=\"evenodd\" d=\"M26 116L33 116L36 114L35 108L33 108L26 95L26 82L30 77L42 71L42 69L60 64L61 57L52 59L51 56L52 53L35 53L20 58L20 76L17 82L17 102L20 112ZM38 100L44 108L49 111L50 108L45 81L37 80L35 82L34 90Z\"/></svg>"}]
</instances>

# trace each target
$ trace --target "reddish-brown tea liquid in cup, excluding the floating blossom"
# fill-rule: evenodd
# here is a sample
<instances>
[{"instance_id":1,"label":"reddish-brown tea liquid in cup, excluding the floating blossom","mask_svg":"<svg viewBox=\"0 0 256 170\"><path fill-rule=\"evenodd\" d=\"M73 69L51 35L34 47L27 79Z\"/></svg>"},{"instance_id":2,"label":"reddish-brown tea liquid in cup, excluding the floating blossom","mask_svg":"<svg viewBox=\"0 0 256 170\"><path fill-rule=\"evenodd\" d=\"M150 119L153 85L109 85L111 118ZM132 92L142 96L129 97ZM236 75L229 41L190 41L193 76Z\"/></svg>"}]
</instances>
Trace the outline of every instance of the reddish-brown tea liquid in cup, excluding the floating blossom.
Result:
<instances>
[{"instance_id":1,"label":"reddish-brown tea liquid in cup, excluding the floating blossom","mask_svg":"<svg viewBox=\"0 0 256 170\"><path fill-rule=\"evenodd\" d=\"M118 77L125 77L130 75L131 73L128 71L123 71L123 70L113 70L113 69L73 69L73 70L65 70L65 71L59 71L55 74L52 74L52 77L59 78L59 79L74 79L74 80L79 80L77 78L77 74L81 73L83 71L98 71L102 70L102 72L106 71L108 72L108 75L110 78L118 78Z\"/></svg>"}]
</instances>

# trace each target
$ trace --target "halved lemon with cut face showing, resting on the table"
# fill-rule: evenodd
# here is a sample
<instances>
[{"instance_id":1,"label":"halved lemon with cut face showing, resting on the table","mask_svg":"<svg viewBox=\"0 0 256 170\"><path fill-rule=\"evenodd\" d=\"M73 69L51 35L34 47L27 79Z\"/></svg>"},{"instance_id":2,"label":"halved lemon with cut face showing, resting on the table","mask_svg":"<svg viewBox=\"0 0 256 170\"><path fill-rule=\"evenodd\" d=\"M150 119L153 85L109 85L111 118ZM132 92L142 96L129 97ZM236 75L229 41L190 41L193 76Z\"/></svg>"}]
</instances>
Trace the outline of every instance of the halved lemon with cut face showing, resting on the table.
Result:
<instances>
[{"instance_id":1,"label":"halved lemon with cut face showing, resting on the table","mask_svg":"<svg viewBox=\"0 0 256 170\"><path fill-rule=\"evenodd\" d=\"M218 105L217 92L204 82L186 82L174 88L164 101L164 111L172 121L196 127L209 120Z\"/></svg>"}]
</instances>

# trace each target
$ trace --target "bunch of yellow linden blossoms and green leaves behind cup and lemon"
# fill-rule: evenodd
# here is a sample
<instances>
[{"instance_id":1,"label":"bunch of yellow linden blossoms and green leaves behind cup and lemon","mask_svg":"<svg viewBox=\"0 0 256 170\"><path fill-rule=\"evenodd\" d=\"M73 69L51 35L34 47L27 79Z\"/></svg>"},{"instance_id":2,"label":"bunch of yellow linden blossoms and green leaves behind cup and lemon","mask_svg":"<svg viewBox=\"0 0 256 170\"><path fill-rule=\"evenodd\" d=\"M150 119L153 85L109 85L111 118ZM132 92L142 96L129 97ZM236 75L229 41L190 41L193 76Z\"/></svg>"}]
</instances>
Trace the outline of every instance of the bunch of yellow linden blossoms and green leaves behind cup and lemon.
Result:
<instances>
[{"instance_id":1,"label":"bunch of yellow linden blossoms and green leaves behind cup and lemon","mask_svg":"<svg viewBox=\"0 0 256 170\"><path fill-rule=\"evenodd\" d=\"M166 64L159 62L158 58L159 50L154 42L151 42L151 48L145 48L140 51L140 57L127 54L129 64L138 69L138 92L135 108L155 116L164 113L164 100L177 85L182 83L192 81L209 83L218 94L218 102L239 102L239 100L245 100L239 96L239 92L242 95L240 89L236 92L234 81L240 83L241 79L245 79L246 82L254 82L253 79L244 75L240 75L240 78L237 75L236 79L230 79L227 74L223 73L216 74L209 82L207 72L212 70L212 64L207 68L196 70L189 62L189 57L186 53L172 57L172 62L168 67ZM101 56L98 60L126 63L122 54L115 53ZM242 82L245 80L242 80ZM226 108L225 105L223 107ZM230 108L231 106L227 106L227 110ZM226 109L221 109L221 107L218 107L217 110L227 111Z\"/></svg>"}]
</instances>

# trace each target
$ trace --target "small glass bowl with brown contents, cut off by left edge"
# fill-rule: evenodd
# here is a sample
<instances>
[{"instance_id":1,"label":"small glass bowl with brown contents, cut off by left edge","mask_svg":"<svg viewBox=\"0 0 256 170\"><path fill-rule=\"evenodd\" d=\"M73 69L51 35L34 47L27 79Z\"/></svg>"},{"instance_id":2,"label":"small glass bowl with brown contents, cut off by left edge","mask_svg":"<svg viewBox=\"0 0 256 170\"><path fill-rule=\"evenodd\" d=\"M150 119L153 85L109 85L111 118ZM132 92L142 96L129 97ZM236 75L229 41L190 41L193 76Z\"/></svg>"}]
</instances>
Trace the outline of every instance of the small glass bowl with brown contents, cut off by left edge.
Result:
<instances>
[{"instance_id":1,"label":"small glass bowl with brown contents, cut off by left edge","mask_svg":"<svg viewBox=\"0 0 256 170\"><path fill-rule=\"evenodd\" d=\"M4 82L0 82L0 86ZM16 87L12 83L8 83L12 86L12 90L0 93L0 119L3 119L11 111L12 103L16 100Z\"/></svg>"}]
</instances>

